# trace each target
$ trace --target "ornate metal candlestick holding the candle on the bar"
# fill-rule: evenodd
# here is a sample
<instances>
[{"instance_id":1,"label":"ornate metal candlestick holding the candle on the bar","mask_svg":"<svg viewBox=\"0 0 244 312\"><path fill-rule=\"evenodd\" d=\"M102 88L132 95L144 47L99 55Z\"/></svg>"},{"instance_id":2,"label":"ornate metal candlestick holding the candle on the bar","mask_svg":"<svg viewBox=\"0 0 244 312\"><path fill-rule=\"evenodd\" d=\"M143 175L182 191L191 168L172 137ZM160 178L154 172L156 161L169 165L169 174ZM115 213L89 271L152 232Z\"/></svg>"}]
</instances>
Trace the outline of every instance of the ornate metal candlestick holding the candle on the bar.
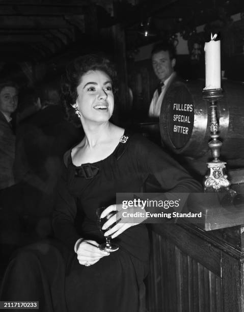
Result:
<instances>
[{"instance_id":1,"label":"ornate metal candlestick holding the candle on the bar","mask_svg":"<svg viewBox=\"0 0 244 312\"><path fill-rule=\"evenodd\" d=\"M209 102L209 109L211 110L210 120L210 137L212 140L208 143L211 149L213 160L207 163L209 168L208 175L204 178L204 191L218 192L221 189L227 190L232 196L235 196L236 192L230 189L230 181L226 174L226 162L219 160L220 150L222 142L219 140L219 122L216 116L217 101L223 97L222 89L207 89L203 90L203 99Z\"/></svg>"}]
</instances>

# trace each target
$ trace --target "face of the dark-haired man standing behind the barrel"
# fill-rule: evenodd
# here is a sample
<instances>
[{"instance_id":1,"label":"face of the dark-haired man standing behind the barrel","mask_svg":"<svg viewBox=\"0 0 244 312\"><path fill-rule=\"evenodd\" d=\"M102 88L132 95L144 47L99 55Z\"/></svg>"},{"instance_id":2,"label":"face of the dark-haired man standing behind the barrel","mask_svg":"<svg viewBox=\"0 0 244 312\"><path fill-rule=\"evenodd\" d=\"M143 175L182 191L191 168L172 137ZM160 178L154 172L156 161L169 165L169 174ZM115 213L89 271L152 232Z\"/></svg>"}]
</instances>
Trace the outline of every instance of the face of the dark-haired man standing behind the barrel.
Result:
<instances>
[{"instance_id":1,"label":"face of the dark-haired man standing behind the barrel","mask_svg":"<svg viewBox=\"0 0 244 312\"><path fill-rule=\"evenodd\" d=\"M152 67L161 82L165 82L174 71L175 59L170 59L169 51L159 51L152 56Z\"/></svg>"}]
</instances>

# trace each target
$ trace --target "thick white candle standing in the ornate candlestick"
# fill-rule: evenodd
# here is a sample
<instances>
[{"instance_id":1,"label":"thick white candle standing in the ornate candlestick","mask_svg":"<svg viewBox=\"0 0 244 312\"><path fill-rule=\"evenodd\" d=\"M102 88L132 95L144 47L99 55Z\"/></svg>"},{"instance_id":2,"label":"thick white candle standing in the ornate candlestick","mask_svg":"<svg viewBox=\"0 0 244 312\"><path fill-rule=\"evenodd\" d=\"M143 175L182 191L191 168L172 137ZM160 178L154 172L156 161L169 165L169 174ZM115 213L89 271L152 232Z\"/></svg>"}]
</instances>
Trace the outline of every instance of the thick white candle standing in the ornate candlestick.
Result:
<instances>
[{"instance_id":1,"label":"thick white candle standing in the ornate candlestick","mask_svg":"<svg viewBox=\"0 0 244 312\"><path fill-rule=\"evenodd\" d=\"M220 66L220 40L214 41L217 34L212 36L209 42L205 42L205 88L221 88L221 66Z\"/></svg>"}]
</instances>

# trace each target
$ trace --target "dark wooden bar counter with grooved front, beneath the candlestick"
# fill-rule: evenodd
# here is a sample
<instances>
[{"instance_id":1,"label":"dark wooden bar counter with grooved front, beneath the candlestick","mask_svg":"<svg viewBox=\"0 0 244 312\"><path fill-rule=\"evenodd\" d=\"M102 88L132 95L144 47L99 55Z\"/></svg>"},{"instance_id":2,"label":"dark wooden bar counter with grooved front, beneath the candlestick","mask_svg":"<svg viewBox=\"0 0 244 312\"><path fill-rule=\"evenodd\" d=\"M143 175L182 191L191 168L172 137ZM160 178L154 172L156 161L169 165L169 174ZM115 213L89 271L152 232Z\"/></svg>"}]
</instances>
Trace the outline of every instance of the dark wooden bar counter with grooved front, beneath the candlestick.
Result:
<instances>
[{"instance_id":1,"label":"dark wooden bar counter with grooved front, beneath the candlestick","mask_svg":"<svg viewBox=\"0 0 244 312\"><path fill-rule=\"evenodd\" d=\"M244 311L244 202L237 203L196 206L198 224L150 225L147 311Z\"/></svg>"}]
</instances>

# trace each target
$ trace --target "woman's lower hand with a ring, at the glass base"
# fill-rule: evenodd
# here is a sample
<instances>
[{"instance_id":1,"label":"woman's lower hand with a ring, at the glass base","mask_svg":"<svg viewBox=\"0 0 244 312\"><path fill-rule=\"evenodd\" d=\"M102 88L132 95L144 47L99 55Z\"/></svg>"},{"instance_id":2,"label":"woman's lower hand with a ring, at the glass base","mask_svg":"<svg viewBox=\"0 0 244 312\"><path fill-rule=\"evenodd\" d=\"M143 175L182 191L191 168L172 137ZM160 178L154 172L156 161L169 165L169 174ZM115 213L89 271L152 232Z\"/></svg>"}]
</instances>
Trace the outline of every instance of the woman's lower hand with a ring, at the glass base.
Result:
<instances>
[{"instance_id":1,"label":"woman's lower hand with a ring, at the glass base","mask_svg":"<svg viewBox=\"0 0 244 312\"><path fill-rule=\"evenodd\" d=\"M81 265L93 265L102 257L110 255L107 251L98 249L98 243L91 240L83 240L77 248L77 259Z\"/></svg>"}]
</instances>

